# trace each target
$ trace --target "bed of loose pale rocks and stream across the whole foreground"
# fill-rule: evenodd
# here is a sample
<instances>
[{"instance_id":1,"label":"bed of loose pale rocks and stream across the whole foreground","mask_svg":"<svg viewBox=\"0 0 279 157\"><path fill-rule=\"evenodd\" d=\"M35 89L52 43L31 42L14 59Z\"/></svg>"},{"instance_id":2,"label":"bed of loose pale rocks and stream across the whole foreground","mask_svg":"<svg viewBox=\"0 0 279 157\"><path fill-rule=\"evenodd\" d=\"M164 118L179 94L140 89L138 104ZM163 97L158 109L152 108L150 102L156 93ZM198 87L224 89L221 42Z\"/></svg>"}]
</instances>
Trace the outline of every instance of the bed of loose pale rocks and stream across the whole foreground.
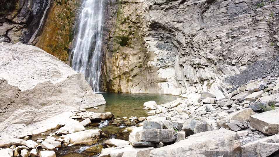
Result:
<instances>
[{"instance_id":1,"label":"bed of loose pale rocks and stream across the whole foreground","mask_svg":"<svg viewBox=\"0 0 279 157\"><path fill-rule=\"evenodd\" d=\"M231 92L221 101L208 92L196 103L148 101L142 106L146 117L79 109L69 114L71 124L2 142L0 151L4 157L278 156L278 87L279 78L267 77L228 86Z\"/></svg>"}]
</instances>

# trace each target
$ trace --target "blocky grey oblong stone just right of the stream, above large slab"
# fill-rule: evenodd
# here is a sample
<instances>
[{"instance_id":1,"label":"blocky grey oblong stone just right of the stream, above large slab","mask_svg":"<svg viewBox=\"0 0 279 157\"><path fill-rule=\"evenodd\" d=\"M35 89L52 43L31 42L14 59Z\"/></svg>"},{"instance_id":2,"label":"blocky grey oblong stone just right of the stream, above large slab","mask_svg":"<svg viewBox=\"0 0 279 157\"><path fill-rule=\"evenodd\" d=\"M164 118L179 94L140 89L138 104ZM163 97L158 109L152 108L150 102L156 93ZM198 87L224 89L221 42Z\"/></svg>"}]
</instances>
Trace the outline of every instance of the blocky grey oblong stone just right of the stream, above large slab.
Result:
<instances>
[{"instance_id":1,"label":"blocky grey oblong stone just right of the stream, above large slab","mask_svg":"<svg viewBox=\"0 0 279 157\"><path fill-rule=\"evenodd\" d=\"M144 129L136 132L136 141L152 143L171 143L176 140L176 132L173 129Z\"/></svg>"}]
</instances>

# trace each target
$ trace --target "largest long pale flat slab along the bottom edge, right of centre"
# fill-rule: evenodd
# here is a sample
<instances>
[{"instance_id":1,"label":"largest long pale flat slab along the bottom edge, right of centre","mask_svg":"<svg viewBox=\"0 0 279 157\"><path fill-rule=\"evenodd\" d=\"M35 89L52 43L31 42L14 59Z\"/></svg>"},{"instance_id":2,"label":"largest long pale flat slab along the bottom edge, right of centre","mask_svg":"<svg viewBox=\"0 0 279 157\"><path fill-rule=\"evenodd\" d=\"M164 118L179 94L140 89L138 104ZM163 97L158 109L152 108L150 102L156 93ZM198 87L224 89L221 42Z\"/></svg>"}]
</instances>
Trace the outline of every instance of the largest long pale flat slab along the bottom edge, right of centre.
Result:
<instances>
[{"instance_id":1,"label":"largest long pale flat slab along the bottom edge, right of centre","mask_svg":"<svg viewBox=\"0 0 279 157\"><path fill-rule=\"evenodd\" d=\"M201 132L174 144L154 149L150 157L186 157L193 154L204 156L223 156L236 154L234 150L240 146L236 132L219 129Z\"/></svg>"}]
</instances>

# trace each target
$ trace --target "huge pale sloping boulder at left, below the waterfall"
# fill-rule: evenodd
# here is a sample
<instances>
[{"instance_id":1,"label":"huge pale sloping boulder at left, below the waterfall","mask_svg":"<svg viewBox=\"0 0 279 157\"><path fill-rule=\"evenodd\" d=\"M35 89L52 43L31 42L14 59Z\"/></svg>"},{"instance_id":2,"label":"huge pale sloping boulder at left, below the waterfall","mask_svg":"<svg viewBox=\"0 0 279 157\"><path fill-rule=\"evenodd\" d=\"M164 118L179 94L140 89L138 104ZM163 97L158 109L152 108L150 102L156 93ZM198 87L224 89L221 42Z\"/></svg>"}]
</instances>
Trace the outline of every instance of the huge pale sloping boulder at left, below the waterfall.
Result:
<instances>
[{"instance_id":1,"label":"huge pale sloping boulder at left, below the waterfall","mask_svg":"<svg viewBox=\"0 0 279 157\"><path fill-rule=\"evenodd\" d=\"M20 43L0 43L0 97L0 132L11 124L30 125L75 108L105 104L82 73Z\"/></svg>"}]
</instances>

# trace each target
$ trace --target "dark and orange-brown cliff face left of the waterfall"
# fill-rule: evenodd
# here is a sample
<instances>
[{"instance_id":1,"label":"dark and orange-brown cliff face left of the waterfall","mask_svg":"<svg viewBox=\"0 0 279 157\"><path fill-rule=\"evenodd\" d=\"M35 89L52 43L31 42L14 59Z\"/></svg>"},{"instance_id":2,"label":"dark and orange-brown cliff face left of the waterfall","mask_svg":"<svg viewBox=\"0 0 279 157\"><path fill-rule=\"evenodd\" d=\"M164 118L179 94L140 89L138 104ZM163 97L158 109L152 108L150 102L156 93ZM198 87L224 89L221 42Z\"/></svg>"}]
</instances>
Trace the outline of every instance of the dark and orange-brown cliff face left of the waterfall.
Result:
<instances>
[{"instance_id":1,"label":"dark and orange-brown cliff face left of the waterfall","mask_svg":"<svg viewBox=\"0 0 279 157\"><path fill-rule=\"evenodd\" d=\"M4 0L0 42L35 45L67 62L82 0Z\"/></svg>"}]
</instances>

